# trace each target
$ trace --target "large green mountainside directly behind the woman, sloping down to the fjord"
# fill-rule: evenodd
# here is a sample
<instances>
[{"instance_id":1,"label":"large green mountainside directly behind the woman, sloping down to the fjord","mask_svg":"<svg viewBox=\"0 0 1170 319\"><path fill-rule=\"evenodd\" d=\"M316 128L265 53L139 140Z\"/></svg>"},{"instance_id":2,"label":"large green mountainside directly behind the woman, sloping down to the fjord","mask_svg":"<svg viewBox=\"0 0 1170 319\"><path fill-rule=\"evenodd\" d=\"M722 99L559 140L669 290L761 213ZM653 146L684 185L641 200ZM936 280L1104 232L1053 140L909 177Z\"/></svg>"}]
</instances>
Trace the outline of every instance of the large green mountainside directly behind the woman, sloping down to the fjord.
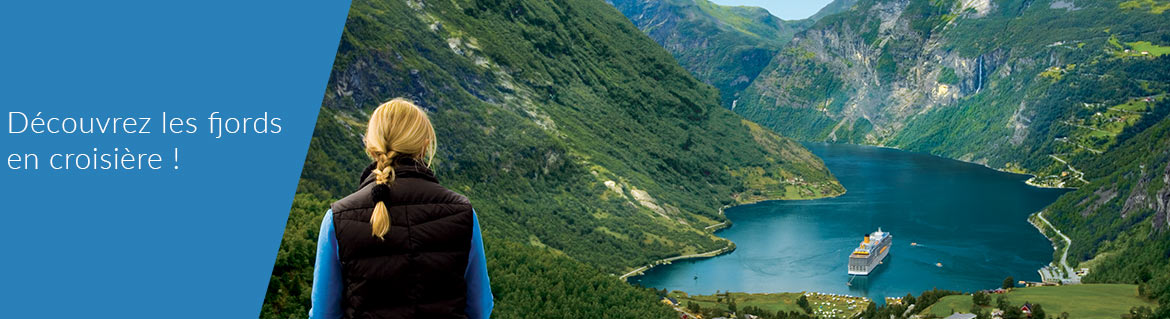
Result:
<instances>
[{"instance_id":1,"label":"large green mountainside directly behind the woman, sloping down to the fjord","mask_svg":"<svg viewBox=\"0 0 1170 319\"><path fill-rule=\"evenodd\" d=\"M356 188L367 113L394 97L431 115L434 171L476 207L493 278L511 278L493 282L498 318L674 315L614 275L731 247L708 229L722 206L845 192L605 2L355 1L264 317L307 308L315 224Z\"/></svg>"}]
</instances>

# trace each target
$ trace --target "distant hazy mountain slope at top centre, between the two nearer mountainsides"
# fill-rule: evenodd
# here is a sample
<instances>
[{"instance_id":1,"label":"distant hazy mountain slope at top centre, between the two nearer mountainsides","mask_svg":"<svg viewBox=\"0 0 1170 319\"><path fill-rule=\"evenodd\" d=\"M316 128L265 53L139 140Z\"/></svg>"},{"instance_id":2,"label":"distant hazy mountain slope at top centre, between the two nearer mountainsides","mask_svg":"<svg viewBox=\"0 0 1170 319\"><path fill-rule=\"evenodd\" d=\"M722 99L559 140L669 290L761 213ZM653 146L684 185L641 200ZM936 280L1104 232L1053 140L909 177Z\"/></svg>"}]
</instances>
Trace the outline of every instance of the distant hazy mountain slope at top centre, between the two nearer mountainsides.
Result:
<instances>
[{"instance_id":1,"label":"distant hazy mountain slope at top centre, between the two nearer mountainsides","mask_svg":"<svg viewBox=\"0 0 1170 319\"><path fill-rule=\"evenodd\" d=\"M792 35L811 25L708 0L608 1L684 69L718 89L728 108Z\"/></svg>"}]
</instances>

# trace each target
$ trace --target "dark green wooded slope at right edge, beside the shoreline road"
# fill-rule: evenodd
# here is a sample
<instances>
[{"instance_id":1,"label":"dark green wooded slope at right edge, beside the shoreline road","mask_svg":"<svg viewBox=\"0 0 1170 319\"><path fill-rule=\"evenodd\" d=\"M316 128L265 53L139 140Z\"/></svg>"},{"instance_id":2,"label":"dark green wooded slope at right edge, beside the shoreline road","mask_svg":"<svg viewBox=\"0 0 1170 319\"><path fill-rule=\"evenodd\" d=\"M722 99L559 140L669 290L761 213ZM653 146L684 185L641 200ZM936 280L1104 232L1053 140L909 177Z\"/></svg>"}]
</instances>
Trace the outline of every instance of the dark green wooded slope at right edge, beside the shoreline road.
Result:
<instances>
[{"instance_id":1,"label":"dark green wooded slope at right edge, beside the shoreline road","mask_svg":"<svg viewBox=\"0 0 1170 319\"><path fill-rule=\"evenodd\" d=\"M1085 282L1135 283L1170 317L1170 100L1116 151L1094 159L1090 183L1061 196L1045 216L1072 240L1068 263Z\"/></svg>"}]
</instances>

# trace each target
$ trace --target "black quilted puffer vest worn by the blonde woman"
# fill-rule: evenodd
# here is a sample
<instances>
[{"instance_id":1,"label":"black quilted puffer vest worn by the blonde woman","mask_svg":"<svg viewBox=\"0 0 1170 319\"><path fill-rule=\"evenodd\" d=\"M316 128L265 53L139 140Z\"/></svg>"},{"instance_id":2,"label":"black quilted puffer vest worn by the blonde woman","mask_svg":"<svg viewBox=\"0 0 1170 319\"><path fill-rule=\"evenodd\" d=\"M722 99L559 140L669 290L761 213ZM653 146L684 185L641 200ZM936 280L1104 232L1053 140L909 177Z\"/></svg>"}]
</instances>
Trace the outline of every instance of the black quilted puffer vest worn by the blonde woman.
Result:
<instances>
[{"instance_id":1,"label":"black quilted puffer vest worn by the blonde woman","mask_svg":"<svg viewBox=\"0 0 1170 319\"><path fill-rule=\"evenodd\" d=\"M332 204L345 318L467 318L472 203L410 158L394 162L390 233L374 237L373 165L358 190Z\"/></svg>"}]
</instances>

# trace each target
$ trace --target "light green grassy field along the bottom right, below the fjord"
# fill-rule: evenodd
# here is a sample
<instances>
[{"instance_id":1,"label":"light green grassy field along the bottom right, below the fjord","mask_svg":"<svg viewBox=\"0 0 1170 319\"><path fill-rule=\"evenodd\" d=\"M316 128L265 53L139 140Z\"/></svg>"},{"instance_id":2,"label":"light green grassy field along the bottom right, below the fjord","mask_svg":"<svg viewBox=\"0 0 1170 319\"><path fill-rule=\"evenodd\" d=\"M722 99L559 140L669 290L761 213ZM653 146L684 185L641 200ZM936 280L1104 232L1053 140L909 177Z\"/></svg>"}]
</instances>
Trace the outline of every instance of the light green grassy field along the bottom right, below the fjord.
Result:
<instances>
[{"instance_id":1,"label":"light green grassy field along the bottom right, below the fjord","mask_svg":"<svg viewBox=\"0 0 1170 319\"><path fill-rule=\"evenodd\" d=\"M1057 318L1061 312L1067 312L1068 318L1117 318L1128 314L1129 310L1136 306L1154 306L1154 303L1137 294L1136 285L1126 284L1020 287L1005 294L1009 303L1016 306L1024 303L1044 305L1048 318ZM970 294L943 297L923 313L938 318L950 315L951 310L970 313L971 299ZM990 313L993 307L997 305L989 303L980 310Z\"/></svg>"}]
</instances>

